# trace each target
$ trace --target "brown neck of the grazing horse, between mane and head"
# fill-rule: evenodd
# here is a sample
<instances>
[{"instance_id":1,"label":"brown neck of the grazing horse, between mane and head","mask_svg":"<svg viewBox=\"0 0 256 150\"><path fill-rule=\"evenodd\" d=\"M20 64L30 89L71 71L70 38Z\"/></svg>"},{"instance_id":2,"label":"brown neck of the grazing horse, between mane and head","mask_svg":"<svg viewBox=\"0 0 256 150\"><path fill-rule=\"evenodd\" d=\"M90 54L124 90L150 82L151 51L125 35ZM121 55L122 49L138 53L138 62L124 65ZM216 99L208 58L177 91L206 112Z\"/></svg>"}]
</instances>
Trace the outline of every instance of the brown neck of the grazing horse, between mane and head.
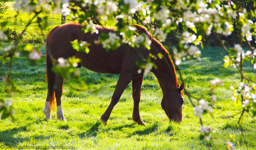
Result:
<instances>
[{"instance_id":1,"label":"brown neck of the grazing horse, between mane and head","mask_svg":"<svg viewBox=\"0 0 256 150\"><path fill-rule=\"evenodd\" d=\"M159 58L158 58L159 59ZM177 89L176 77L172 71L171 66L167 62L165 57L162 60L158 60L156 65L157 69L154 69L152 72L155 74L163 94L169 93L171 90Z\"/></svg>"}]
</instances>

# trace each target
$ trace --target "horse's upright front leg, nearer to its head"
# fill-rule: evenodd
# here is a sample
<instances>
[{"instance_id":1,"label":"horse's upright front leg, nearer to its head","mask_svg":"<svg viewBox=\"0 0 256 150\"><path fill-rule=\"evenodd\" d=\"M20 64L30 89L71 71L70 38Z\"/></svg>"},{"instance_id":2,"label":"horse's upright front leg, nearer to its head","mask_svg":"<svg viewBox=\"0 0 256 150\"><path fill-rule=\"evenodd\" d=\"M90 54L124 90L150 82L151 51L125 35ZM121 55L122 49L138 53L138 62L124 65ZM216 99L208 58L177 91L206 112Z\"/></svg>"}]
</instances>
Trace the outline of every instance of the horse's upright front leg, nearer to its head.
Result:
<instances>
[{"instance_id":1,"label":"horse's upright front leg, nearer to its head","mask_svg":"<svg viewBox=\"0 0 256 150\"><path fill-rule=\"evenodd\" d=\"M137 122L140 125L145 125L145 123L140 119L140 110L139 110L140 91L141 91L142 81L143 81L143 76L132 79L132 98L133 98L132 119L133 121Z\"/></svg>"}]
</instances>

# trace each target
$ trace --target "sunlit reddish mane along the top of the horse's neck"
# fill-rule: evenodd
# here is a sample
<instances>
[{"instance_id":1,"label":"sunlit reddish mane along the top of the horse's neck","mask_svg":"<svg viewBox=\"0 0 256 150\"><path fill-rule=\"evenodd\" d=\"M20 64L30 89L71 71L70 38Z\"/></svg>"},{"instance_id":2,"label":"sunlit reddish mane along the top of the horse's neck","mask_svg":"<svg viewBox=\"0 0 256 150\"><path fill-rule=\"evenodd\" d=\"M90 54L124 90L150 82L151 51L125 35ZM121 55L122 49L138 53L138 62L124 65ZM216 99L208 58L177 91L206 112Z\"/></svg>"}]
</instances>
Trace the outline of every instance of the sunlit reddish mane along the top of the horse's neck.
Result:
<instances>
[{"instance_id":1,"label":"sunlit reddish mane along the top of the horse's neck","mask_svg":"<svg viewBox=\"0 0 256 150\"><path fill-rule=\"evenodd\" d=\"M169 52L164 48L164 46L162 45L162 43L160 43L159 41L157 41L157 40L148 32L148 30L147 30L145 27L140 26L140 25L132 25L132 26L136 26L136 28L137 28L139 31L142 31L143 33L145 33L145 34L148 36L148 38L151 40L151 44L154 44L157 49L161 50L161 52L164 54L165 58L167 59L168 63L170 64L170 67L172 68L173 74L174 74L175 79L176 79L176 86L180 86L180 85L179 85L179 82L178 82L177 75L176 75L176 71L175 71L175 68L174 68L174 64L173 64L172 59L171 59L171 56L169 55Z\"/></svg>"}]
</instances>

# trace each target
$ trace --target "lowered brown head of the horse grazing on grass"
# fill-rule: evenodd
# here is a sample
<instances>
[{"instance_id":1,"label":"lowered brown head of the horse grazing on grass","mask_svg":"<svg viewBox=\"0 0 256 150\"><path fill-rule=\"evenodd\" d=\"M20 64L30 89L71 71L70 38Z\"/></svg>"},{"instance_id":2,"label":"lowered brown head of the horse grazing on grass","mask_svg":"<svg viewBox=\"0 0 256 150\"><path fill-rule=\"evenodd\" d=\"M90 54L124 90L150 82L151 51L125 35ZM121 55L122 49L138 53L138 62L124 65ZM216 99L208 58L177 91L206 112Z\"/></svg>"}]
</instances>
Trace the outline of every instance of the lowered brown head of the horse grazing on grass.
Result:
<instances>
[{"instance_id":1,"label":"lowered brown head of the horse grazing on grass","mask_svg":"<svg viewBox=\"0 0 256 150\"><path fill-rule=\"evenodd\" d=\"M172 90L170 93L163 97L161 106L164 109L168 118L175 122L182 121L182 105L184 103L182 90L184 89L184 82L176 90Z\"/></svg>"}]
</instances>

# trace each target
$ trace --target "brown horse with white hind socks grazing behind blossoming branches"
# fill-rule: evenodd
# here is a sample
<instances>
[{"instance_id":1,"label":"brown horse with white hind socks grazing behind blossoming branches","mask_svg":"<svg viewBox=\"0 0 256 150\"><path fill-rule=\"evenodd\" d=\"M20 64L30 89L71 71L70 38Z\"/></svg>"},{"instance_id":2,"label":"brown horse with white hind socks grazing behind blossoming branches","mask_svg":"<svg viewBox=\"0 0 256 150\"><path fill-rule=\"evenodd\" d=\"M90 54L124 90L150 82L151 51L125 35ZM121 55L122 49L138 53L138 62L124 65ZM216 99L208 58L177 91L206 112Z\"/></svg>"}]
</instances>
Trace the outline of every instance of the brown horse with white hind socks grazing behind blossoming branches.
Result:
<instances>
[{"instance_id":1,"label":"brown horse with white hind socks grazing behind blossoming branches","mask_svg":"<svg viewBox=\"0 0 256 150\"><path fill-rule=\"evenodd\" d=\"M56 26L52 29L48 34L46 42L46 79L48 83L48 94L43 110L46 119L52 119L50 112L52 105L54 105L53 101L56 98L57 118L59 120L66 121L61 106L64 79L60 75L56 75L52 72L52 59L58 59L59 57L67 59L70 56L76 56L82 60L80 65L89 70L99 73L120 74L111 102L100 119L107 124L112 109L119 101L124 89L132 80L132 98L134 101L132 118L138 124L145 125L145 123L140 119L139 113L143 71L138 73L139 67L136 65L136 61L141 59L138 53L144 56L144 58L148 58L149 52L151 52L155 56L158 53L165 56L163 58L152 59L156 64L157 69L153 67L151 70L155 74L162 88L163 99L161 106L170 121L182 121L182 105L184 103L182 90L184 89L184 83L179 86L174 65L169 53L159 41L148 33L144 27L139 25L134 26L137 28L139 34L146 34L148 38L151 39L152 43L150 51L144 47L131 49L122 45L116 50L110 50L107 52L102 45L94 44L94 40L99 38L100 33L114 32L115 28L112 27L95 25L99 34L84 34L81 30L83 26L78 22L69 22ZM90 52L86 54L85 52L73 49L70 41L74 41L75 39L91 43L91 46L89 46Z\"/></svg>"}]
</instances>

